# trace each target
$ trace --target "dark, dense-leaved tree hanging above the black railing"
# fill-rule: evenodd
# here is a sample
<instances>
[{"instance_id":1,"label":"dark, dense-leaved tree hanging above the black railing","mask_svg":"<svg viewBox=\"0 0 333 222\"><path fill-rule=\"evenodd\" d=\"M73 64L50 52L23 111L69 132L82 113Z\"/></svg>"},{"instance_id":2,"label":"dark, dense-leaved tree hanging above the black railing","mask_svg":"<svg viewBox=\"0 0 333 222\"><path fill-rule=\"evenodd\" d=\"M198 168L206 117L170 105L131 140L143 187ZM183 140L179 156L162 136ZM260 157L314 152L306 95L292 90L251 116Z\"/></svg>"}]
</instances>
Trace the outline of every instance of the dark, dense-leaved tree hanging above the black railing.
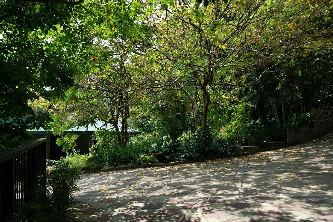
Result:
<instances>
[{"instance_id":1,"label":"dark, dense-leaved tree hanging above the black railing","mask_svg":"<svg viewBox=\"0 0 333 222\"><path fill-rule=\"evenodd\" d=\"M78 44L64 43L62 37L72 33L67 39L74 39L71 13L78 4L1 1L0 149L29 139L26 129L49 127L50 116L33 111L28 100L54 100L73 85L78 67L73 50Z\"/></svg>"}]
</instances>

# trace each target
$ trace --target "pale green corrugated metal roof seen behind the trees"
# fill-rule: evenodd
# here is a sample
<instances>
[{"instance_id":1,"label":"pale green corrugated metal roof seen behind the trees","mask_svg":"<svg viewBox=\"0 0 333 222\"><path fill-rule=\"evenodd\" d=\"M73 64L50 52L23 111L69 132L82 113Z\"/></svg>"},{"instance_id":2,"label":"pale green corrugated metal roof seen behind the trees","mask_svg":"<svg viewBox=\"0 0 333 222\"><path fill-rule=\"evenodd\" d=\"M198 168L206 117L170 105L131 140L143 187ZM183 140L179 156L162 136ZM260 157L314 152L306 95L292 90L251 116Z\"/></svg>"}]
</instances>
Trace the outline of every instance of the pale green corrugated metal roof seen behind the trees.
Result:
<instances>
[{"instance_id":1,"label":"pale green corrugated metal roof seen behind the trees","mask_svg":"<svg viewBox=\"0 0 333 222\"><path fill-rule=\"evenodd\" d=\"M101 120L96 121L96 123L94 124L89 124L88 127L86 128L85 126L80 126L77 128L71 128L70 130L66 130L65 132L86 132L86 133L94 133L100 129L107 129L107 130L112 130L115 131L115 128L108 123L107 125L104 125L105 123ZM121 124L118 122L118 128L121 129ZM52 133L52 130L50 130L49 132L47 132L45 129L43 128L39 128L39 129L31 129L31 130L27 130L31 133ZM128 128L127 129L128 132L140 132L139 130L133 129L133 128Z\"/></svg>"}]
</instances>

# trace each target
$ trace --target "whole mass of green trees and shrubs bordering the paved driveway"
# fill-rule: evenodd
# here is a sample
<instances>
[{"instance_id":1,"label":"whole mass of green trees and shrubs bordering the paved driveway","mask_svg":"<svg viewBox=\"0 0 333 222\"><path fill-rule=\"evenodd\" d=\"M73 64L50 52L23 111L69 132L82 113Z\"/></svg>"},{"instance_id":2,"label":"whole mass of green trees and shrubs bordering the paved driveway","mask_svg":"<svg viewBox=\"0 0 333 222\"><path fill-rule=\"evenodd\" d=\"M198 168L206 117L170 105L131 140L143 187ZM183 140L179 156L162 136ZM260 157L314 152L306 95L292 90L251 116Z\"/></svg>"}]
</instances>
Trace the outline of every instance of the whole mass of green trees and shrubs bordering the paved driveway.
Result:
<instances>
[{"instance_id":1,"label":"whole mass of green trees and shrubs bordering the paved driveway","mask_svg":"<svg viewBox=\"0 0 333 222\"><path fill-rule=\"evenodd\" d=\"M234 142L259 144L271 128L311 127L313 108L333 106L332 8L1 1L1 148L53 120L58 144L74 149L64 131L99 120L114 131L96 133L83 167L93 169L237 153Z\"/></svg>"}]
</instances>

